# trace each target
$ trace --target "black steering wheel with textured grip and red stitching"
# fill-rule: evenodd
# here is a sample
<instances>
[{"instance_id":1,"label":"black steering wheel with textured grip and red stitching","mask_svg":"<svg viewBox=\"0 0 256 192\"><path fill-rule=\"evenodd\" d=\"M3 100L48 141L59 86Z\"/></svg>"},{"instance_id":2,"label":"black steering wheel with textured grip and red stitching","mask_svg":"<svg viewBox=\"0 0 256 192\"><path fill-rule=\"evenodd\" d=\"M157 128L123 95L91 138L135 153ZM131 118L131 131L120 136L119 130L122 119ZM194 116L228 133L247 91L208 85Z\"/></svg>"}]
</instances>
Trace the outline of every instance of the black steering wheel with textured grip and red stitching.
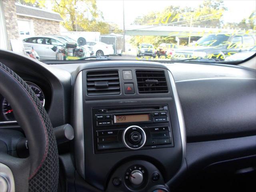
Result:
<instances>
[{"instance_id":1,"label":"black steering wheel with textured grip and red stitching","mask_svg":"<svg viewBox=\"0 0 256 192\"><path fill-rule=\"evenodd\" d=\"M30 156L26 159L0 153L1 165L9 167L13 174L15 190L57 191L58 148L47 112L28 84L2 63L0 94L12 106L14 116L24 130L29 144Z\"/></svg>"}]
</instances>

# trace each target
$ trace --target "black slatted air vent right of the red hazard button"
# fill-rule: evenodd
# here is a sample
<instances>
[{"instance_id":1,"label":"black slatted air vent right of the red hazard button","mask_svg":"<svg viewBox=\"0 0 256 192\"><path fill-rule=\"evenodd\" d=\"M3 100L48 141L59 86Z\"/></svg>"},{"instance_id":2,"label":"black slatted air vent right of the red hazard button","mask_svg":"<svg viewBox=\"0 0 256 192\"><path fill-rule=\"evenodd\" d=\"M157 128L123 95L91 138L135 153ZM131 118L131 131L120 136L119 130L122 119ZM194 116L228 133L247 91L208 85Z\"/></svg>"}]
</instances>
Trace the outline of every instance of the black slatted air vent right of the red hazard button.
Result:
<instances>
[{"instance_id":1,"label":"black slatted air vent right of the red hazard button","mask_svg":"<svg viewBox=\"0 0 256 192\"><path fill-rule=\"evenodd\" d=\"M137 70L138 91L145 93L167 93L168 87L164 71Z\"/></svg>"}]
</instances>

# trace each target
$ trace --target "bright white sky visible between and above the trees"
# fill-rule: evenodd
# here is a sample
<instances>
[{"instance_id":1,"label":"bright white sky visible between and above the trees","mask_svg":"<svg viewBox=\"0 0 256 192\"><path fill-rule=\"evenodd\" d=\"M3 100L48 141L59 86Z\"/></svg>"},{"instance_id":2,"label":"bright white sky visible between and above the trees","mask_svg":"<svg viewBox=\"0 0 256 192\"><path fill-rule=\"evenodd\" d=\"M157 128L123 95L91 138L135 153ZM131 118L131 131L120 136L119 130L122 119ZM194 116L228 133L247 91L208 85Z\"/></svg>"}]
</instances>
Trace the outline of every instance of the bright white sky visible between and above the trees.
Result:
<instances>
[{"instance_id":1,"label":"bright white sky visible between and above the trees","mask_svg":"<svg viewBox=\"0 0 256 192\"><path fill-rule=\"evenodd\" d=\"M201 3L201 0L124 0L125 23L131 24L137 16L164 10L166 6L196 8ZM224 0L224 5L228 8L222 16L224 22L240 22L256 10L256 0ZM122 24L122 0L97 0L97 6L102 11L105 22Z\"/></svg>"}]
</instances>

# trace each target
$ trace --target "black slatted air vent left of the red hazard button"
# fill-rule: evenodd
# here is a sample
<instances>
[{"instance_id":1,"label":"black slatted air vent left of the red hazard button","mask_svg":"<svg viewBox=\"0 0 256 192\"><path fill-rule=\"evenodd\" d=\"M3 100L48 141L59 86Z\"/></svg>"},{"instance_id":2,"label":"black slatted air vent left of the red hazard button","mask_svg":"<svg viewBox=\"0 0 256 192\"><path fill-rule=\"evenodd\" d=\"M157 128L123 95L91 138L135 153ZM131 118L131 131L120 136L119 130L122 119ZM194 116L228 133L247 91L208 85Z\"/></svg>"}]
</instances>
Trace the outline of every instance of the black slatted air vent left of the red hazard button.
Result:
<instances>
[{"instance_id":1,"label":"black slatted air vent left of the red hazard button","mask_svg":"<svg viewBox=\"0 0 256 192\"><path fill-rule=\"evenodd\" d=\"M88 72L86 78L88 95L120 94L118 71Z\"/></svg>"}]
</instances>

